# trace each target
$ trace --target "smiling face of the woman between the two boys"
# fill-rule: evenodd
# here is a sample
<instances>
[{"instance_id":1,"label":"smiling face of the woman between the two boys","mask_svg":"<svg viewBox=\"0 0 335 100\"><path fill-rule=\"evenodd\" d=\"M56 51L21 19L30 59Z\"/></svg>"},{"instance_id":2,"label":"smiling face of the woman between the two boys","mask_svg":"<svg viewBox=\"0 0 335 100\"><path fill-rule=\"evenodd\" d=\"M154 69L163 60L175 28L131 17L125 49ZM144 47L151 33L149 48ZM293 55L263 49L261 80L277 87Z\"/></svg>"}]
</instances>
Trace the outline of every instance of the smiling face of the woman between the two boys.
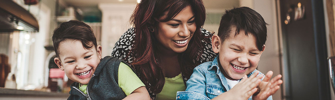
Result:
<instances>
[{"instance_id":1,"label":"smiling face of the woman between the two boys","mask_svg":"<svg viewBox=\"0 0 335 100\"><path fill-rule=\"evenodd\" d=\"M196 28L195 15L191 6L187 6L172 20L158 22L155 28L155 37L160 43L158 48L164 53L184 52Z\"/></svg>"}]
</instances>

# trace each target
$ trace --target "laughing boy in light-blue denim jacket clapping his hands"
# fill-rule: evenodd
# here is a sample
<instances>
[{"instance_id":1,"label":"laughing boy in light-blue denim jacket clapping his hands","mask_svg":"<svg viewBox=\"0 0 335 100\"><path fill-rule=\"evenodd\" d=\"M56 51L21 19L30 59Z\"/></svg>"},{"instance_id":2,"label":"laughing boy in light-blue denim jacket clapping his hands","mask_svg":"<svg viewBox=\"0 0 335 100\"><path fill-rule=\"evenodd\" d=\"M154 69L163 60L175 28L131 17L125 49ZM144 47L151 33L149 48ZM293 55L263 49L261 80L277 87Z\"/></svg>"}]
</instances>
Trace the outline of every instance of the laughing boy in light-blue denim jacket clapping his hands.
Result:
<instances>
[{"instance_id":1,"label":"laughing boy in light-blue denim jacket clapping his hands","mask_svg":"<svg viewBox=\"0 0 335 100\"><path fill-rule=\"evenodd\" d=\"M256 70L265 49L266 25L248 7L227 10L218 34L212 37L213 51L219 55L194 68L186 91L177 92L177 100L272 100L281 75L270 80L273 72L269 71L263 79L264 74Z\"/></svg>"}]
</instances>

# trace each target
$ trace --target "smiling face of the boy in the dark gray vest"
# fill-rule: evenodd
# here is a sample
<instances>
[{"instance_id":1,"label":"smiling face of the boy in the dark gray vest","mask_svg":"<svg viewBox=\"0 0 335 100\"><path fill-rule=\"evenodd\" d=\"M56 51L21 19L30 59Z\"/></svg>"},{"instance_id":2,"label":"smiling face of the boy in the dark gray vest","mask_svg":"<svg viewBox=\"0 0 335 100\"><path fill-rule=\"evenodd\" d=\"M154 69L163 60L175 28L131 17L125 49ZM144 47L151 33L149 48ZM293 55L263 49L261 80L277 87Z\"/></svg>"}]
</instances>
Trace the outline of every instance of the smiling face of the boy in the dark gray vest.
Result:
<instances>
[{"instance_id":1,"label":"smiling face of the boy in the dark gray vest","mask_svg":"<svg viewBox=\"0 0 335 100\"><path fill-rule=\"evenodd\" d=\"M66 76L80 84L88 84L101 59L101 46L87 50L78 40L66 39L59 44L59 58L55 63Z\"/></svg>"}]
</instances>

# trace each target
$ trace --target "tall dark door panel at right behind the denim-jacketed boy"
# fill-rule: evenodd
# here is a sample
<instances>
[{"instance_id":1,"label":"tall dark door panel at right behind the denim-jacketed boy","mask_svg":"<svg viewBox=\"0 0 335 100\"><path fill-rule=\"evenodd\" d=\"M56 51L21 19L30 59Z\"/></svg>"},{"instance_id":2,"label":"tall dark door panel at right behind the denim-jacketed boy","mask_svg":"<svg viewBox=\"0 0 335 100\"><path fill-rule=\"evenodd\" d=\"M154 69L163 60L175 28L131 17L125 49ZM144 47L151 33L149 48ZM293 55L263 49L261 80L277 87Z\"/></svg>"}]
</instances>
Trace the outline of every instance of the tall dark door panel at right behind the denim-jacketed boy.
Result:
<instances>
[{"instance_id":1,"label":"tall dark door panel at right behind the denim-jacketed boy","mask_svg":"<svg viewBox=\"0 0 335 100\"><path fill-rule=\"evenodd\" d=\"M306 7L305 18L294 21L294 8L300 2ZM288 100L329 100L324 13L322 0L280 0L281 20L289 8L291 21L282 23L284 47L287 51L290 90ZM323 52L323 53L322 53ZM326 74L327 73L327 74Z\"/></svg>"}]
</instances>

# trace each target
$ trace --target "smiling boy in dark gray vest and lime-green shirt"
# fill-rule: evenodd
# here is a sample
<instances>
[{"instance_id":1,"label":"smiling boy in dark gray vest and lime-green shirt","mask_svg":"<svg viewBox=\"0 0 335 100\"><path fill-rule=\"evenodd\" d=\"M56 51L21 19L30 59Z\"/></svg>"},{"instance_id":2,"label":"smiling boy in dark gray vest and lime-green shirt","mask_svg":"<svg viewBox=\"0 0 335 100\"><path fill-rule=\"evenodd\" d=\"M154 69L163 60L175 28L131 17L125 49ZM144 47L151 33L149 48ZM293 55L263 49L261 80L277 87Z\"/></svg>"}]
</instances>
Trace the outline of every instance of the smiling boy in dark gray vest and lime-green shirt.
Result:
<instances>
[{"instance_id":1,"label":"smiling boy in dark gray vest and lime-green shirt","mask_svg":"<svg viewBox=\"0 0 335 100\"><path fill-rule=\"evenodd\" d=\"M52 36L54 59L66 76L75 81L68 100L149 100L145 85L116 57L101 57L92 29L80 21L68 21Z\"/></svg>"}]
</instances>

